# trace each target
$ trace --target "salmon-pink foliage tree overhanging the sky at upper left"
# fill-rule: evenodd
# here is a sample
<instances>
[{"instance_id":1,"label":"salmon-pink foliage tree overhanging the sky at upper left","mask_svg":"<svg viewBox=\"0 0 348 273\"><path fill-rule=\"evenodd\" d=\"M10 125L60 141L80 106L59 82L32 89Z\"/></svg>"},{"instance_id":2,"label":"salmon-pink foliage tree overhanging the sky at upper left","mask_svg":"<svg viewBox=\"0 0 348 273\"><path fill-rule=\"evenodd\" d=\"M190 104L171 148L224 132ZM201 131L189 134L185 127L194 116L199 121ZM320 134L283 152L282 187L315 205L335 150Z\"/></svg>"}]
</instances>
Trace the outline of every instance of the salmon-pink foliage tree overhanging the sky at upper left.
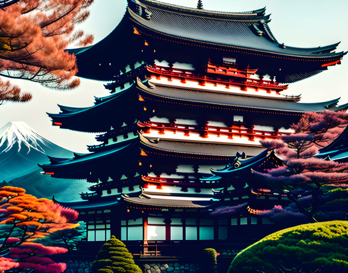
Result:
<instances>
[{"instance_id":1,"label":"salmon-pink foliage tree overhanging the sky at upper left","mask_svg":"<svg viewBox=\"0 0 348 273\"><path fill-rule=\"evenodd\" d=\"M53 88L79 85L76 57L69 44L87 46L93 35L75 30L89 15L93 0L21 0L0 9L0 76ZM0 100L23 101L18 88L1 91ZM11 92L13 91L13 92Z\"/></svg>"}]
</instances>

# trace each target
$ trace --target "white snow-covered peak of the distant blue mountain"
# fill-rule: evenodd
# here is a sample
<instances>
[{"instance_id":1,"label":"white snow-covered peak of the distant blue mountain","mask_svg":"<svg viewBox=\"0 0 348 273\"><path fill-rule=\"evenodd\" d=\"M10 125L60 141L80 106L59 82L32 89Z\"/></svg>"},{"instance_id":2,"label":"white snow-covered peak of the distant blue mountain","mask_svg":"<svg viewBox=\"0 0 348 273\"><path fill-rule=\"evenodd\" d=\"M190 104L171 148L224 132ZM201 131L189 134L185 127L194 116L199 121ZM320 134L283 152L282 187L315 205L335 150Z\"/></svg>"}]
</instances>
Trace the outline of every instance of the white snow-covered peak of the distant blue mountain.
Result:
<instances>
[{"instance_id":1,"label":"white snow-covered peak of the distant blue mountain","mask_svg":"<svg viewBox=\"0 0 348 273\"><path fill-rule=\"evenodd\" d=\"M21 150L22 145L30 149L35 149L45 154L45 150L42 148L49 144L45 138L41 137L34 129L27 125L23 121L11 121L0 129L0 147L1 152L10 150L14 144L18 144L18 151ZM3 144L5 148L2 147Z\"/></svg>"}]
</instances>

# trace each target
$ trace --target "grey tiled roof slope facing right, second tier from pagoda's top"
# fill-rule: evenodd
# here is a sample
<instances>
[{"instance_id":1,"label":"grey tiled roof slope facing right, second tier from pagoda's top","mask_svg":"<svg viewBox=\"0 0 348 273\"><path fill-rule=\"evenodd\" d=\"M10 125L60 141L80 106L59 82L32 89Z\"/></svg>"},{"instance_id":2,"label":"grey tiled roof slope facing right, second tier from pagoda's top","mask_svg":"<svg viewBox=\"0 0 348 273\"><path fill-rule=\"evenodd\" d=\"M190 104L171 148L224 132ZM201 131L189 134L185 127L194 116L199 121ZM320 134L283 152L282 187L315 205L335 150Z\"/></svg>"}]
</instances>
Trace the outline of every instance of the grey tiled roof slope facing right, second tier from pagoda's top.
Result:
<instances>
[{"instance_id":1,"label":"grey tiled roof slope facing right, second tier from pagoda's top","mask_svg":"<svg viewBox=\"0 0 348 273\"><path fill-rule=\"evenodd\" d=\"M226 93L215 93L210 91L199 91L181 88L172 88L167 86L154 85L149 82L137 81L138 88L148 95L169 101L189 102L192 106L215 105L221 108L243 107L264 109L281 112L303 113L306 111L318 112L326 109L340 110L348 108L348 103L336 107L340 98L315 103L302 103L290 100L276 100L252 96L234 95ZM146 95L145 95L146 97Z\"/></svg>"}]
</instances>

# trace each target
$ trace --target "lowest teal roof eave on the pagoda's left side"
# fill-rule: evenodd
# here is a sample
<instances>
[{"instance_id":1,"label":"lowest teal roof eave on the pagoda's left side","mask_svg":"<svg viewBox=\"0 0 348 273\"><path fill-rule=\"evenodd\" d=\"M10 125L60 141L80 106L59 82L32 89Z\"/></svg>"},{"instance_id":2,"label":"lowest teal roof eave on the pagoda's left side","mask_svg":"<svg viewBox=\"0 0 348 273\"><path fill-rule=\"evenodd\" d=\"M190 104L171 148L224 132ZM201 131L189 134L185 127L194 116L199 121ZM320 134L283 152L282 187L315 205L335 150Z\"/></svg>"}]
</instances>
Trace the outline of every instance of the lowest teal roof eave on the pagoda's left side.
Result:
<instances>
[{"instance_id":1,"label":"lowest teal roof eave on the pagoda's left side","mask_svg":"<svg viewBox=\"0 0 348 273\"><path fill-rule=\"evenodd\" d=\"M77 210L94 209L94 208L107 209L107 208L120 205L123 203L123 200L121 199L120 195L112 196L112 197L103 197L103 198L92 199L92 200L85 200L85 201L73 201L73 202L60 202L56 200L53 196L52 200L63 207L68 207L68 208L77 209Z\"/></svg>"}]
</instances>

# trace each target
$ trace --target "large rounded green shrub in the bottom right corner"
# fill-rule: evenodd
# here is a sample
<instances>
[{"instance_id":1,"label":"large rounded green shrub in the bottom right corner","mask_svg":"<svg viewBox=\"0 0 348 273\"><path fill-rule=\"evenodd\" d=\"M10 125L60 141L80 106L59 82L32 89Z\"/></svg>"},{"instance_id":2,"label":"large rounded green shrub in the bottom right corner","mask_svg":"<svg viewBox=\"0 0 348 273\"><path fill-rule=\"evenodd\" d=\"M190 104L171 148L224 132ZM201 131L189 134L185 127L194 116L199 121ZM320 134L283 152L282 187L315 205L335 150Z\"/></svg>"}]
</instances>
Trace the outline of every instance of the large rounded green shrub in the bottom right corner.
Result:
<instances>
[{"instance_id":1,"label":"large rounded green shrub in the bottom right corner","mask_svg":"<svg viewBox=\"0 0 348 273\"><path fill-rule=\"evenodd\" d=\"M228 273L346 272L348 221L304 224L272 233L241 251Z\"/></svg>"}]
</instances>

